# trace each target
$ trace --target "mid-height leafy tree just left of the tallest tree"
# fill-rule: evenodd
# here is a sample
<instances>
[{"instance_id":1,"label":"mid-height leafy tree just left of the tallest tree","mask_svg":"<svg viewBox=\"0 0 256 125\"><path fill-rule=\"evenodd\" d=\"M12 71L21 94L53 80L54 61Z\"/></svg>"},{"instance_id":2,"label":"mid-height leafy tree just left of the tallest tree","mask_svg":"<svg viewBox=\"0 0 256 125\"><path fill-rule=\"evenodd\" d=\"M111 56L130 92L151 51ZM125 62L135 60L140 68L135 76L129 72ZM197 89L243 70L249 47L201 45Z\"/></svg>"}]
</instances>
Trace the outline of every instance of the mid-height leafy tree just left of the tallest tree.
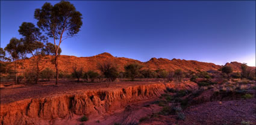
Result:
<instances>
[{"instance_id":1,"label":"mid-height leafy tree just left of the tallest tree","mask_svg":"<svg viewBox=\"0 0 256 125\"><path fill-rule=\"evenodd\" d=\"M42 60L43 56L45 56L44 46L47 38L42 35L39 28L33 23L23 22L21 26L19 26L19 34L22 35L20 40L23 43L25 52L30 53L33 56L33 61L36 63L36 84L39 81L39 63Z\"/></svg>"}]
</instances>

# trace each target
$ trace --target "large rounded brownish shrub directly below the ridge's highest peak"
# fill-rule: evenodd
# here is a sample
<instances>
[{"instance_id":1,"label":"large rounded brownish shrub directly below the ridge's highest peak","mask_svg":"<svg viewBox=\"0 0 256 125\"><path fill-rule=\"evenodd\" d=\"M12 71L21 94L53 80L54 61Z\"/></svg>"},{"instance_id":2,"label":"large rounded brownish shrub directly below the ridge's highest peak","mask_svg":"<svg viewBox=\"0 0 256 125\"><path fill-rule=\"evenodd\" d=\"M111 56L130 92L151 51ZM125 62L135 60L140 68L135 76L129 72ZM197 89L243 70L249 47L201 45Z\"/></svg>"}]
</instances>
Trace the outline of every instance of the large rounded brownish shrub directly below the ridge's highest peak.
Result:
<instances>
[{"instance_id":1,"label":"large rounded brownish shrub directly below the ridge's highest peak","mask_svg":"<svg viewBox=\"0 0 256 125\"><path fill-rule=\"evenodd\" d=\"M111 62L103 62L98 64L98 69L101 70L102 74L109 80L115 81L119 76L117 66Z\"/></svg>"}]
</instances>

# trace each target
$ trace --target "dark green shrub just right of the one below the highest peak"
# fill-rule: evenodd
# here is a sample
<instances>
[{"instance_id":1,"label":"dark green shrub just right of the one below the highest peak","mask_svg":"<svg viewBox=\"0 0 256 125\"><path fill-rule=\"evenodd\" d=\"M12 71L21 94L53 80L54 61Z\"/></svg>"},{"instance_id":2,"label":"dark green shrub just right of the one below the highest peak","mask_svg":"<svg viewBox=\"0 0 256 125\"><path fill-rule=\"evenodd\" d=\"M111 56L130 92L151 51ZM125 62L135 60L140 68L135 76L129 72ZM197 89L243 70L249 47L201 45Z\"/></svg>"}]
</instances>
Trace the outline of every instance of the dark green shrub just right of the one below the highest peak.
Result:
<instances>
[{"instance_id":1,"label":"dark green shrub just right of the one below the highest peak","mask_svg":"<svg viewBox=\"0 0 256 125\"><path fill-rule=\"evenodd\" d=\"M132 81L134 81L134 78L140 75L140 69L142 69L142 66L140 64L129 64L125 66L125 75L128 78L131 78Z\"/></svg>"}]
</instances>

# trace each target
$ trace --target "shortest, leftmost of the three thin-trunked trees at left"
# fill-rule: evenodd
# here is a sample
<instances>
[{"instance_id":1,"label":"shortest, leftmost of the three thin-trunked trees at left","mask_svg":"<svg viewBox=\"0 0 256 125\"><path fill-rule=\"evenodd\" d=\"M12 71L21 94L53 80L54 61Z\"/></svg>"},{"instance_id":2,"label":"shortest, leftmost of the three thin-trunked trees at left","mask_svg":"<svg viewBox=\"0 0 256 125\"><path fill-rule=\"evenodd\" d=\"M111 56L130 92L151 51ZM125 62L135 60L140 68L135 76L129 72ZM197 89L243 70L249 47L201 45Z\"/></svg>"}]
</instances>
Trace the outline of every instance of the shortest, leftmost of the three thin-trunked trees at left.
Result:
<instances>
[{"instance_id":1,"label":"shortest, leftmost of the three thin-trunked trees at left","mask_svg":"<svg viewBox=\"0 0 256 125\"><path fill-rule=\"evenodd\" d=\"M17 84L17 61L25 53L25 48L19 39L13 37L4 50L10 54L11 59L14 62L15 82Z\"/></svg>"}]
</instances>

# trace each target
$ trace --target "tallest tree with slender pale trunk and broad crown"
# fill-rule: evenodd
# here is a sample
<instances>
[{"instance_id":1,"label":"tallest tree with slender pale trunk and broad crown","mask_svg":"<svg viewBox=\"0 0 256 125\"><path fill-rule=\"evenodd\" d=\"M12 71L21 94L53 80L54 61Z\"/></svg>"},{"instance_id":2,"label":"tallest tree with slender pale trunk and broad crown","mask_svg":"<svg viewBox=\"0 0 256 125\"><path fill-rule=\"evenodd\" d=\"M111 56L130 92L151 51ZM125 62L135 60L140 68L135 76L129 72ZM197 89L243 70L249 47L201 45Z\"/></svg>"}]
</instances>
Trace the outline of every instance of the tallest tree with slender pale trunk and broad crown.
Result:
<instances>
[{"instance_id":1,"label":"tallest tree with slender pale trunk and broad crown","mask_svg":"<svg viewBox=\"0 0 256 125\"><path fill-rule=\"evenodd\" d=\"M82 14L68 1L60 1L55 5L45 2L42 8L37 8L34 12L34 18L38 20L37 26L54 41L56 85L58 84L58 49L66 38L73 37L80 31L83 25L81 16Z\"/></svg>"}]
</instances>

